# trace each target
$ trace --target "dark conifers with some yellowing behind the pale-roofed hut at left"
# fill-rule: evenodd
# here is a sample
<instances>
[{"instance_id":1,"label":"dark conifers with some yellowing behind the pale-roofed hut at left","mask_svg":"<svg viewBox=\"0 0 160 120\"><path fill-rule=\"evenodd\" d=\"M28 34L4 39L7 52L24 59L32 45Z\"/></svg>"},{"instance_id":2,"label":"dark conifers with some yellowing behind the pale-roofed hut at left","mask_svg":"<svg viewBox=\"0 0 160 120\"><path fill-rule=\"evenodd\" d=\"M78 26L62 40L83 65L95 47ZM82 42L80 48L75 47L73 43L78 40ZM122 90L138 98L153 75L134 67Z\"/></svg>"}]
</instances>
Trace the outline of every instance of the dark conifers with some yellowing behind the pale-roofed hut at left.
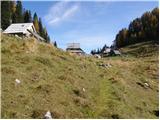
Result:
<instances>
[{"instance_id":1,"label":"dark conifers with some yellowing behind the pale-roofed hut at left","mask_svg":"<svg viewBox=\"0 0 160 120\"><path fill-rule=\"evenodd\" d=\"M34 13L33 17L30 10L25 10L21 1L1 1L1 28L5 30L12 23L31 23L33 22L37 33L50 43L50 37L43 26L42 20Z\"/></svg>"}]
</instances>

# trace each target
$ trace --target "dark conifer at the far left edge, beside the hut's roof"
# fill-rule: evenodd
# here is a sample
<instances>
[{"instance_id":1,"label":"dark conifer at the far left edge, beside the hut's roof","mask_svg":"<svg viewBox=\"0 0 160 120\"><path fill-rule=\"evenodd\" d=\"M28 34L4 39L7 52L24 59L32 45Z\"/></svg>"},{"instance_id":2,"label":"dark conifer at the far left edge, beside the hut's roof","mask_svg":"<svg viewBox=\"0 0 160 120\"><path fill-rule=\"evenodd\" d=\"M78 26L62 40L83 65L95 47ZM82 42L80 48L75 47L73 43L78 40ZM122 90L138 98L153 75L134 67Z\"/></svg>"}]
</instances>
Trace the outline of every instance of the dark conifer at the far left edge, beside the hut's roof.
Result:
<instances>
[{"instance_id":1,"label":"dark conifer at the far left edge, beside the hut's roof","mask_svg":"<svg viewBox=\"0 0 160 120\"><path fill-rule=\"evenodd\" d=\"M5 30L11 24L10 1L1 1L1 25Z\"/></svg>"}]
</instances>

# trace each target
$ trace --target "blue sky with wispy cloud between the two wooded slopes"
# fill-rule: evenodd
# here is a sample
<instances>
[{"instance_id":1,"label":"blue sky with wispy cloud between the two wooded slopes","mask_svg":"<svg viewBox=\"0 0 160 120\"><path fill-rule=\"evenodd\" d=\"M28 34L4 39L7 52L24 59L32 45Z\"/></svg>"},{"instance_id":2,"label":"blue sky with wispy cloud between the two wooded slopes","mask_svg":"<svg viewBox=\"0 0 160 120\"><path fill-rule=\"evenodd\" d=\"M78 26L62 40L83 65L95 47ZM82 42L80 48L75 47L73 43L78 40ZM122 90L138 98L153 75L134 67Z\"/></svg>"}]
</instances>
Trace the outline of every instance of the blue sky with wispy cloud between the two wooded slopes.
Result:
<instances>
[{"instance_id":1,"label":"blue sky with wispy cloud between the two wooded slopes","mask_svg":"<svg viewBox=\"0 0 160 120\"><path fill-rule=\"evenodd\" d=\"M80 43L90 53L104 44L110 46L116 34L144 12L158 7L156 1L65 2L23 1L23 7L42 18L52 41L65 49Z\"/></svg>"}]
</instances>

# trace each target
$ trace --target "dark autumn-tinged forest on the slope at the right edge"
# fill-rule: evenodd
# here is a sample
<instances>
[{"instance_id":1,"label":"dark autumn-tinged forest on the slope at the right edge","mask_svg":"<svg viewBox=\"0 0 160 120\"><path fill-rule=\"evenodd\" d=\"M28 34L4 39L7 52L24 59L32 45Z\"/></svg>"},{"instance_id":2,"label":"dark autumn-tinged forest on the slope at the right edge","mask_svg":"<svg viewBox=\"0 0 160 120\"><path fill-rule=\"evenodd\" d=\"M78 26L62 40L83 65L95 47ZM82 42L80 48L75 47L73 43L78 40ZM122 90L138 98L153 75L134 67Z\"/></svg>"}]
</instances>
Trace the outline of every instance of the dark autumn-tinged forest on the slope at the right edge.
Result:
<instances>
[{"instance_id":1,"label":"dark autumn-tinged forest on the slope at the right edge","mask_svg":"<svg viewBox=\"0 0 160 120\"><path fill-rule=\"evenodd\" d=\"M116 35L114 46L121 48L144 41L159 43L159 8L145 12L140 18L133 20L128 29L120 30Z\"/></svg>"}]
</instances>

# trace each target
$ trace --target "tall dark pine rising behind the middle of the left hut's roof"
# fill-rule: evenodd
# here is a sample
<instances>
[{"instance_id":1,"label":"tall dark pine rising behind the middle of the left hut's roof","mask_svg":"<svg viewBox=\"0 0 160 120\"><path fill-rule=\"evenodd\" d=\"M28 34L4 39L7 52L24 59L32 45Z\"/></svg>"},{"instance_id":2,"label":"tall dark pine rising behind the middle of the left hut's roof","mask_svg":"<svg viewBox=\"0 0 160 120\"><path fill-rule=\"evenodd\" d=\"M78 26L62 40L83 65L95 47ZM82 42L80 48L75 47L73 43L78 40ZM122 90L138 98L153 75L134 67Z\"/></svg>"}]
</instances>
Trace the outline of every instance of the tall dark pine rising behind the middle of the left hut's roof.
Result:
<instances>
[{"instance_id":1,"label":"tall dark pine rising behind the middle of the left hut's roof","mask_svg":"<svg viewBox=\"0 0 160 120\"><path fill-rule=\"evenodd\" d=\"M23 21L23 7L22 7L21 1L17 1L15 16L16 16L16 23L24 22Z\"/></svg>"}]
</instances>

